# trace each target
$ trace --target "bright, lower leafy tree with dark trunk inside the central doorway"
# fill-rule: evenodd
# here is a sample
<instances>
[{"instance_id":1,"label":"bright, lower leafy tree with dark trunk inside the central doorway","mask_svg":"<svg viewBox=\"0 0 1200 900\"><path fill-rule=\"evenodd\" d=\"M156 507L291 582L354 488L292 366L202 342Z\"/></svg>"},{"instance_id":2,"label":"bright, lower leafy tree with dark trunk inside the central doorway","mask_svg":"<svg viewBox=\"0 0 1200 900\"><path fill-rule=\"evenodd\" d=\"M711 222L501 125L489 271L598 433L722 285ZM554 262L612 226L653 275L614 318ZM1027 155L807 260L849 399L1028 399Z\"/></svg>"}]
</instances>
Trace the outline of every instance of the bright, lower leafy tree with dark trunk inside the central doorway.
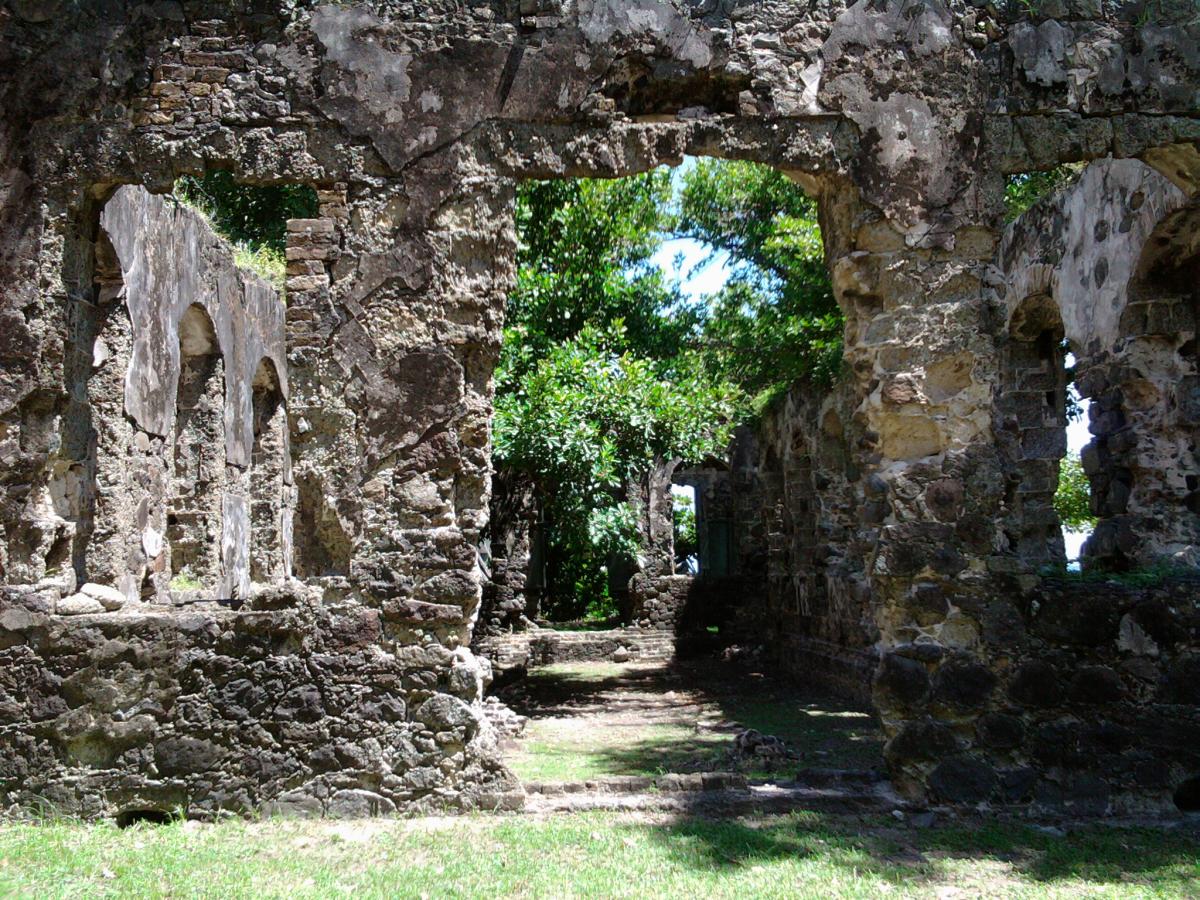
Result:
<instances>
[{"instance_id":1,"label":"bright, lower leafy tree with dark trunk inside the central doorway","mask_svg":"<svg viewBox=\"0 0 1200 900\"><path fill-rule=\"evenodd\" d=\"M688 371L685 371L685 368ZM618 320L584 326L554 344L496 398L497 466L538 484L548 522L552 618L607 613L607 563L637 553L636 511L623 487L656 458L695 462L724 449L737 392L706 377L698 360L672 380L634 355Z\"/></svg>"}]
</instances>

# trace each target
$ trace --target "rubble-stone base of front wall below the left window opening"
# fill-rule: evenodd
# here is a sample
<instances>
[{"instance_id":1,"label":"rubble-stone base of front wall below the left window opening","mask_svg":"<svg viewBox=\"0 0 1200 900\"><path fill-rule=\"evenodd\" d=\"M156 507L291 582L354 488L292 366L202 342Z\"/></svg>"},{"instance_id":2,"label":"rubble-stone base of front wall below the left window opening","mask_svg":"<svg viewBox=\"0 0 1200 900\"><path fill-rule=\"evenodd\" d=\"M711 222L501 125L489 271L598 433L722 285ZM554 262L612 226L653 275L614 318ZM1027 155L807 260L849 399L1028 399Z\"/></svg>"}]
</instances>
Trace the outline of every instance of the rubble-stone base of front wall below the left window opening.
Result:
<instances>
[{"instance_id":1,"label":"rubble-stone base of front wall below the left window opening","mask_svg":"<svg viewBox=\"0 0 1200 900\"><path fill-rule=\"evenodd\" d=\"M383 652L376 610L58 617L4 589L4 809L370 815L520 803L466 650ZM516 791L516 793L514 793Z\"/></svg>"}]
</instances>

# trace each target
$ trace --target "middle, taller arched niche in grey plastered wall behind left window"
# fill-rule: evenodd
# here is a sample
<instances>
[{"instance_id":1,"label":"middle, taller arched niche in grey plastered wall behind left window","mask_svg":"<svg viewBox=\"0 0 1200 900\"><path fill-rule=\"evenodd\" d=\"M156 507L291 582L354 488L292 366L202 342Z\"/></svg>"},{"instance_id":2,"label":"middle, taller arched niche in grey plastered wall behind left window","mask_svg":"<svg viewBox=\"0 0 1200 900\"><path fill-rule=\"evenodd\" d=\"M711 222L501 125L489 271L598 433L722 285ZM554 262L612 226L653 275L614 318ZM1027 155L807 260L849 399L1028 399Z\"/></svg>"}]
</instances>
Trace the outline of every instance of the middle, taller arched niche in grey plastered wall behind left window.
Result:
<instances>
[{"instance_id":1,"label":"middle, taller arched niche in grey plastered wall behind left window","mask_svg":"<svg viewBox=\"0 0 1200 900\"><path fill-rule=\"evenodd\" d=\"M221 576L226 481L224 367L212 320L199 306L179 323L172 499L167 512L170 588L215 590Z\"/></svg>"}]
</instances>

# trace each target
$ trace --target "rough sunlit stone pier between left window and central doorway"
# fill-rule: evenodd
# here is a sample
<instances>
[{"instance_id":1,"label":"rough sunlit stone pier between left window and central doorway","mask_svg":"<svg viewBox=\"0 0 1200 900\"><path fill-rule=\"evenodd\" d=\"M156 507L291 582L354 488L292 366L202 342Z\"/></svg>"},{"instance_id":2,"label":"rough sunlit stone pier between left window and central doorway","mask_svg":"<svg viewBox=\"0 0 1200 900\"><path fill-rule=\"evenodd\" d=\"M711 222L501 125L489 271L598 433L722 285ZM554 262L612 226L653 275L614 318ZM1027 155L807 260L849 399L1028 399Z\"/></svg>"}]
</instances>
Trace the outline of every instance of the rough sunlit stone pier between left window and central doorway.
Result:
<instances>
[{"instance_id":1,"label":"rough sunlit stone pier between left window and central doorway","mask_svg":"<svg viewBox=\"0 0 1200 900\"><path fill-rule=\"evenodd\" d=\"M396 640L456 646L480 600L511 185L442 169L344 197L289 223L295 571Z\"/></svg>"}]
</instances>

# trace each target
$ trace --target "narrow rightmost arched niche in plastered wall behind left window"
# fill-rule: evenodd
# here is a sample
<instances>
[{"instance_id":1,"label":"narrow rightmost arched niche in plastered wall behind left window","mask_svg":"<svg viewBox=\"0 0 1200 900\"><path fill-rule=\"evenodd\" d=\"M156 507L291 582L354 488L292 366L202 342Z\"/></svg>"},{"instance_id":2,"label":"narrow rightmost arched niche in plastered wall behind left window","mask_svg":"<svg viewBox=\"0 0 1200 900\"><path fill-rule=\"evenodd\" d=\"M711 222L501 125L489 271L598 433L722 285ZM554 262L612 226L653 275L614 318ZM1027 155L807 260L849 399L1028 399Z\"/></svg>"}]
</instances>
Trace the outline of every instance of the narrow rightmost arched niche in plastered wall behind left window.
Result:
<instances>
[{"instance_id":1,"label":"narrow rightmost arched niche in plastered wall behind left window","mask_svg":"<svg viewBox=\"0 0 1200 900\"><path fill-rule=\"evenodd\" d=\"M263 359L254 372L254 445L250 472L250 577L266 583L288 575L290 510L288 426L275 364Z\"/></svg>"}]
</instances>

